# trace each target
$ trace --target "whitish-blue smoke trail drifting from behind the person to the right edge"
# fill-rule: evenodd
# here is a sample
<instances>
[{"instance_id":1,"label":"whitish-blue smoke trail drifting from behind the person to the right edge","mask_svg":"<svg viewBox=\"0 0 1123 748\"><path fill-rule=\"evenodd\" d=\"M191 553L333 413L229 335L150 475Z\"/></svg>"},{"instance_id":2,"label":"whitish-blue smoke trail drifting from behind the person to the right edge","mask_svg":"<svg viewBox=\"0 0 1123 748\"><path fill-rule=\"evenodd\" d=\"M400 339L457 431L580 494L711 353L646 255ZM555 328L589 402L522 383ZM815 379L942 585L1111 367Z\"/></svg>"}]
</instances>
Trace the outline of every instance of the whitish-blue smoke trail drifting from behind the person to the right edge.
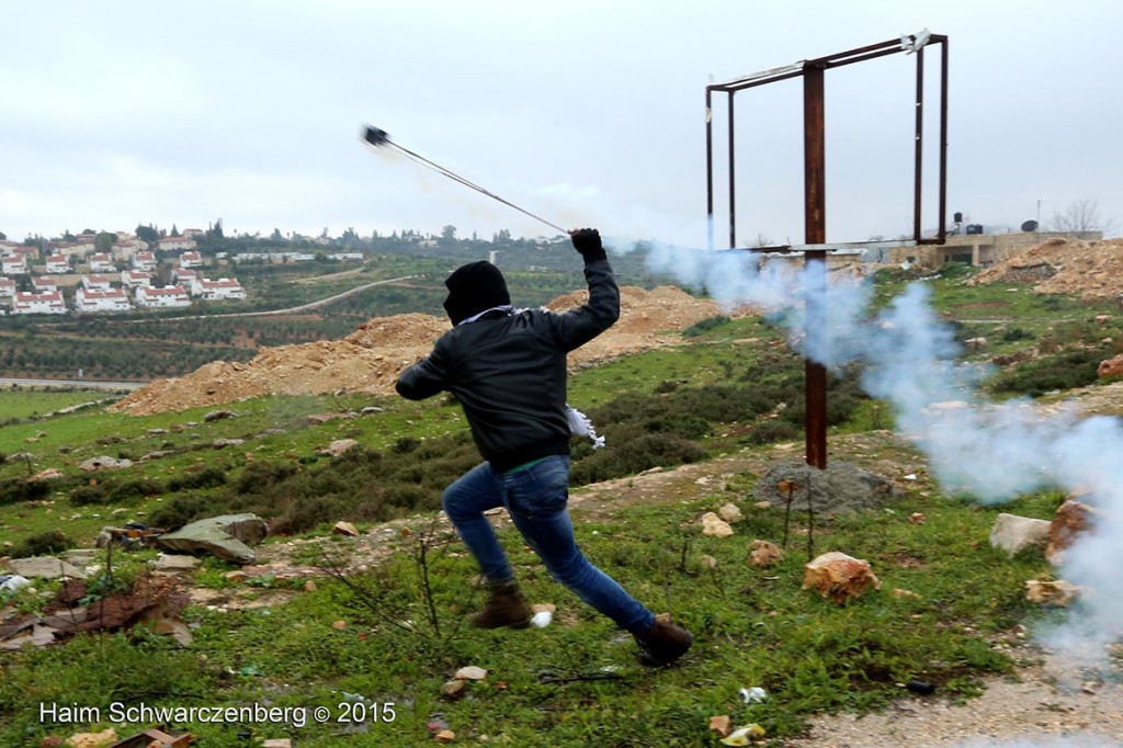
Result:
<instances>
[{"instance_id":1,"label":"whitish-blue smoke trail drifting from behind the person to the right edge","mask_svg":"<svg viewBox=\"0 0 1123 748\"><path fill-rule=\"evenodd\" d=\"M610 240L617 254L630 245ZM1123 426L1120 419L1080 419L1072 410L1048 416L1028 400L980 402L985 371L958 364L951 329L933 313L928 289L912 284L878 314L868 312L868 283L836 283L828 295L827 335L805 336L806 277L787 263L759 263L748 252L686 249L655 244L648 268L705 290L725 309L754 304L783 323L793 347L837 368L866 364L862 384L888 401L898 429L928 455L944 491L984 503L1042 487L1081 494L1099 510L1061 563L1063 577L1089 592L1046 642L1083 664L1102 663L1123 636ZM825 272L825 271L822 271ZM814 299L811 303L815 303Z\"/></svg>"}]
</instances>

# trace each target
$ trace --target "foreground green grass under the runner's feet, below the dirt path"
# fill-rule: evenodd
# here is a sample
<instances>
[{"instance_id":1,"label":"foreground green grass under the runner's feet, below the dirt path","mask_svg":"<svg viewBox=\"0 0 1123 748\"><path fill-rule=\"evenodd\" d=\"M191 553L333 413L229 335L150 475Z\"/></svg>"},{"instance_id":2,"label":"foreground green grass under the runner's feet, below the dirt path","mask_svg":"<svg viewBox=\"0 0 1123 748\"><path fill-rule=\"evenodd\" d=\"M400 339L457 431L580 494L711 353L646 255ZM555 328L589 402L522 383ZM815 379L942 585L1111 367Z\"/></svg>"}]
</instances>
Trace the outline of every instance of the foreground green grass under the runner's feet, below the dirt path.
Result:
<instances>
[{"instance_id":1,"label":"foreground green grass under the runner's feet, below the dirt path","mask_svg":"<svg viewBox=\"0 0 1123 748\"><path fill-rule=\"evenodd\" d=\"M630 639L551 582L510 530L501 538L528 598L556 604L554 623L526 631L465 628L464 612L480 603L472 587L475 568L458 542L445 537L428 569L435 627L412 553L419 540L405 539L383 567L353 578L364 592L319 581L314 592L272 609L189 609L190 648L137 628L7 657L0 745L37 741L49 731L37 720L34 705L40 702L107 713L113 702L140 701L322 705L338 717L344 694L351 693L369 700L368 709L393 703L394 711L392 722L348 737L354 746L428 745L424 726L438 712L460 741L486 735L511 745L546 739L555 746L707 746L713 738L706 724L715 714L757 722L780 738L798 732L812 712L884 706L903 695L896 684L912 678L937 684L944 695L969 696L977 693L978 676L1010 671L1007 656L984 636L1024 620L1021 585L1043 571L1043 562L999 558L985 541L994 512L912 495L893 513L816 528L816 551L846 548L868 558L883 581L880 591L840 606L801 590L802 537L789 542L777 567L745 563L748 540L778 540L776 510L743 502L747 517L734 538L684 529L728 500L660 502L595 519L575 512L586 554L637 598L673 611L696 633L692 653L674 668L636 664ZM929 518L922 526L907 521L916 510ZM421 531L424 524L414 527ZM716 568L707 568L703 555L715 558ZM200 574L218 577L220 571L211 562ZM222 578L219 584L226 584ZM895 596L896 587L920 598ZM390 618L410 620L412 630ZM345 628L334 628L339 620ZM441 684L464 665L485 668L487 678L471 683L463 701L442 701ZM768 700L743 704L738 692L749 686L764 687ZM207 745L244 745L238 726L190 727ZM340 727L252 731L262 738L290 735L311 747L338 745L334 733Z\"/></svg>"}]
</instances>

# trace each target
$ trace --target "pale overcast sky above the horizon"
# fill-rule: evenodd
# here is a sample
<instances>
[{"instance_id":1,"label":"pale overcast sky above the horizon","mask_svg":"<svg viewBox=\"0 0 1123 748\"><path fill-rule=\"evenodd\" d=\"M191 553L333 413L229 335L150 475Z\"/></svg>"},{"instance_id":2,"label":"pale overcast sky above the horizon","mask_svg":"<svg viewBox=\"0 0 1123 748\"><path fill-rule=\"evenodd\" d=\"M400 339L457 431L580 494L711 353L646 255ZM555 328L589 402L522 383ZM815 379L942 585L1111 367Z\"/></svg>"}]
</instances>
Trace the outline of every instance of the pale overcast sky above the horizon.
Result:
<instances>
[{"instance_id":1,"label":"pale overcast sky above the horizon","mask_svg":"<svg viewBox=\"0 0 1123 748\"><path fill-rule=\"evenodd\" d=\"M949 212L1016 229L1092 199L1123 225L1116 0L0 0L0 19L15 240L219 218L228 234L553 234L367 149L373 122L551 222L704 246L711 80L923 28L950 38ZM801 85L737 97L740 244L803 239ZM910 232L914 58L825 85L828 239ZM719 246L724 163L719 148Z\"/></svg>"}]
</instances>

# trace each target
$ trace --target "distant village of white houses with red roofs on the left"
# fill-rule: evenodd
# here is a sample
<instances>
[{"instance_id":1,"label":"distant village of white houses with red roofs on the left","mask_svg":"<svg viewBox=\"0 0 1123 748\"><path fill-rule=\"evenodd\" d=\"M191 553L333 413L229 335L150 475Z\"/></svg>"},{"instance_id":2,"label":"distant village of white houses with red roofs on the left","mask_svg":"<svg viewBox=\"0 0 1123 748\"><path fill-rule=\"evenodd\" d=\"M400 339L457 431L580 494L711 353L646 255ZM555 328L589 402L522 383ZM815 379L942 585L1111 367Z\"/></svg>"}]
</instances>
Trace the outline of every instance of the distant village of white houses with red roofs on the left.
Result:
<instances>
[{"instance_id":1,"label":"distant village of white houses with red roofs on the left","mask_svg":"<svg viewBox=\"0 0 1123 748\"><path fill-rule=\"evenodd\" d=\"M0 240L0 313L85 314L239 301L246 291L236 277L208 275L231 263L316 259L300 252L203 255L198 245L204 236L202 229L184 229L174 236L86 231L64 240ZM329 256L363 259L362 253Z\"/></svg>"}]
</instances>

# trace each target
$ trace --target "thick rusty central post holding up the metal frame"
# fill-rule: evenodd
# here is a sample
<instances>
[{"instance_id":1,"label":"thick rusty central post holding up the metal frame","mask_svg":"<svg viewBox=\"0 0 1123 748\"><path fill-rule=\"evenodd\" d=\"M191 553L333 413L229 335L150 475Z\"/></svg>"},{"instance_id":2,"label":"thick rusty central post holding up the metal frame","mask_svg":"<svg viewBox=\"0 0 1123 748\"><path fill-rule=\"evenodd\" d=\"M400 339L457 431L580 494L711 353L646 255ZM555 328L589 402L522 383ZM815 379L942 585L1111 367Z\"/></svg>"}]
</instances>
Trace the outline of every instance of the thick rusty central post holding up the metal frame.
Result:
<instances>
[{"instance_id":1,"label":"thick rusty central post holding up the metal frame","mask_svg":"<svg viewBox=\"0 0 1123 748\"><path fill-rule=\"evenodd\" d=\"M823 67L803 73L804 241L827 243L827 137L824 124ZM811 352L827 344L827 252L804 256L806 277L806 340ZM827 367L809 356L806 374L807 465L827 468Z\"/></svg>"}]
</instances>

